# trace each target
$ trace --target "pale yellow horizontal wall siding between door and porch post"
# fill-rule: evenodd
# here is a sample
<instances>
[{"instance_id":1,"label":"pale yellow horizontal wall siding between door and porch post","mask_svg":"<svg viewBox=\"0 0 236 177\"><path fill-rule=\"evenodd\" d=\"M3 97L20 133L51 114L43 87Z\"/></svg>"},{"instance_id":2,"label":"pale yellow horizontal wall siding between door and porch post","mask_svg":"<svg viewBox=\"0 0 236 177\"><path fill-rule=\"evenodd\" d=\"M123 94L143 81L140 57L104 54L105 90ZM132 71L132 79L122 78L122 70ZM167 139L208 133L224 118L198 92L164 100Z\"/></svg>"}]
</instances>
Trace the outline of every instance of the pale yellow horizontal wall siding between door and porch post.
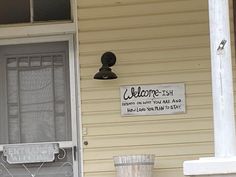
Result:
<instances>
[{"instance_id":1,"label":"pale yellow horizontal wall siding between door and porch post","mask_svg":"<svg viewBox=\"0 0 236 177\"><path fill-rule=\"evenodd\" d=\"M112 157L156 155L154 177L212 156L207 0L78 0L85 177L115 177ZM106 51L118 79L94 80ZM119 88L186 84L186 113L121 117Z\"/></svg>"}]
</instances>

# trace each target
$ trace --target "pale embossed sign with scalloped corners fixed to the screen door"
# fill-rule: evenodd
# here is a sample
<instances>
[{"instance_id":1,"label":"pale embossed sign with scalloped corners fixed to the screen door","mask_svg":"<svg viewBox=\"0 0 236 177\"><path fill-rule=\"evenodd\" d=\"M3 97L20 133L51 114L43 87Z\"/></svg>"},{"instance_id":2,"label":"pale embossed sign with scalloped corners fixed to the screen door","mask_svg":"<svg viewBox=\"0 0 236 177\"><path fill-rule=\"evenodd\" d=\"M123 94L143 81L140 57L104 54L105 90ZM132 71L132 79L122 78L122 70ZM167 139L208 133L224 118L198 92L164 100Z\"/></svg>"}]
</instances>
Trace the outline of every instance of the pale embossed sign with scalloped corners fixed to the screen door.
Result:
<instances>
[{"instance_id":1,"label":"pale embossed sign with scalloped corners fixed to the screen door","mask_svg":"<svg viewBox=\"0 0 236 177\"><path fill-rule=\"evenodd\" d=\"M3 155L9 164L52 162L59 153L57 143L19 144L3 147Z\"/></svg>"}]
</instances>

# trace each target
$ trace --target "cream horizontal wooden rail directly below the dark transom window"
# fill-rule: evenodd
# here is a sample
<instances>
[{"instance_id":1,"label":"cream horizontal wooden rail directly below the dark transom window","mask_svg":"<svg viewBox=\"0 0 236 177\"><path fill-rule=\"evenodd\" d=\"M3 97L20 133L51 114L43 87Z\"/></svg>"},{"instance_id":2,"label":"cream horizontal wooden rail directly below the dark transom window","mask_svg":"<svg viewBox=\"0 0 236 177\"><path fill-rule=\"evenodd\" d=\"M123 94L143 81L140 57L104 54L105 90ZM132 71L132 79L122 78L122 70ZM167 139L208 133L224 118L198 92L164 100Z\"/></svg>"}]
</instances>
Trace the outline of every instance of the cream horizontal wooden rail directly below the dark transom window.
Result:
<instances>
[{"instance_id":1,"label":"cream horizontal wooden rail directly below the dark transom window","mask_svg":"<svg viewBox=\"0 0 236 177\"><path fill-rule=\"evenodd\" d=\"M75 23L63 24L25 24L24 26L0 26L0 39L13 39L35 36L74 34Z\"/></svg>"}]
</instances>

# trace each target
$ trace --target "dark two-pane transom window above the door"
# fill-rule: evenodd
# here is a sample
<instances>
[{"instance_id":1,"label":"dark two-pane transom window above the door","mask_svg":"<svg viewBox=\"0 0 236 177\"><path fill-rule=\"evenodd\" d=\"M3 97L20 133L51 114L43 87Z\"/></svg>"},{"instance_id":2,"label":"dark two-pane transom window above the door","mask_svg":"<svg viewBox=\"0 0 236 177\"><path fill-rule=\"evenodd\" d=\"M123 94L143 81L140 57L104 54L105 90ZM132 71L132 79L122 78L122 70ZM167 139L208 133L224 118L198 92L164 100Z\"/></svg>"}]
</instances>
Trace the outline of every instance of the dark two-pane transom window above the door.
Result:
<instances>
[{"instance_id":1,"label":"dark two-pane transom window above the door","mask_svg":"<svg viewBox=\"0 0 236 177\"><path fill-rule=\"evenodd\" d=\"M71 20L70 0L0 0L0 24Z\"/></svg>"}]
</instances>

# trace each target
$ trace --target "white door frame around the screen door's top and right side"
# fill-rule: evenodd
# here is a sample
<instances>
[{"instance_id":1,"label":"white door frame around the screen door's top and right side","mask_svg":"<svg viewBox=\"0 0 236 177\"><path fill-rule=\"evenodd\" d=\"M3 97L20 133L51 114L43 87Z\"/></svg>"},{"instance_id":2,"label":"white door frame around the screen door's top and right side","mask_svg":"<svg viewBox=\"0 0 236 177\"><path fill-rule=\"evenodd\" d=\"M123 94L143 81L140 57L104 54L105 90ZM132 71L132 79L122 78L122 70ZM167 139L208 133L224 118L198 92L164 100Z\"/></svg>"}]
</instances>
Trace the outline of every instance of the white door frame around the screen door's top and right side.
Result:
<instances>
[{"instance_id":1,"label":"white door frame around the screen door's top and right side","mask_svg":"<svg viewBox=\"0 0 236 177\"><path fill-rule=\"evenodd\" d=\"M43 37L30 37L30 38L15 38L15 39L1 39L0 46L3 45L16 45L16 44L31 44L31 43L46 43L46 42L68 42L69 51L69 75L70 75L70 105L71 105L71 123L72 123L72 147L77 147L76 160L73 161L74 177L83 176L82 166L82 134L81 134L81 102L80 102L80 89L79 88L79 64L78 55L76 50L75 35L55 35ZM68 144L64 144L68 146ZM75 149L73 148L72 151ZM0 151L2 147L0 146Z\"/></svg>"}]
</instances>

